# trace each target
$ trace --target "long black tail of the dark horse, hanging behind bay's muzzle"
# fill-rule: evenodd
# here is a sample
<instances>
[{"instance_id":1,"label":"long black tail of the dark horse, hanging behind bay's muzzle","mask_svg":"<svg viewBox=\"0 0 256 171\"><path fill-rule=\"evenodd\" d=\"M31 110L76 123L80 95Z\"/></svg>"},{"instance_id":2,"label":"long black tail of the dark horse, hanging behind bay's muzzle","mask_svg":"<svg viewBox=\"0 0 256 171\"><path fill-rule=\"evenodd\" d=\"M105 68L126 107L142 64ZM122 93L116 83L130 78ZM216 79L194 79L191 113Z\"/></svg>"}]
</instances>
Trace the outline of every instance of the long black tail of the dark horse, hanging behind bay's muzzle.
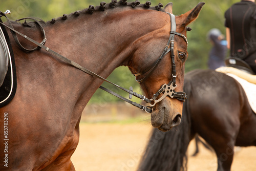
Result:
<instances>
[{"instance_id":1,"label":"long black tail of the dark horse, hanging behind bay's muzzle","mask_svg":"<svg viewBox=\"0 0 256 171\"><path fill-rule=\"evenodd\" d=\"M190 89L190 83L187 80L184 84L184 91L188 94L188 98ZM168 132L153 130L138 171L180 171L187 169L186 151L191 139L191 119L187 105L188 102L183 104L180 125Z\"/></svg>"}]
</instances>

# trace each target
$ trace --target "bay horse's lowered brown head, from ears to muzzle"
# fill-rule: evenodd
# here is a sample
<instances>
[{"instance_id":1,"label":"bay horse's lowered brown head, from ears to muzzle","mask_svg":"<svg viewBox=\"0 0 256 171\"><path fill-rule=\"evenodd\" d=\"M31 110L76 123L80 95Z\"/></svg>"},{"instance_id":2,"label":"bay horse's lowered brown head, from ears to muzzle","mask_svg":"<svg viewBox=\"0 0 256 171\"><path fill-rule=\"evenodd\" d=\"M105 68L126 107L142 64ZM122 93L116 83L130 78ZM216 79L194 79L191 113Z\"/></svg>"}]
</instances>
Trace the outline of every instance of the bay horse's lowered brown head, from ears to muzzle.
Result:
<instances>
[{"instance_id":1,"label":"bay horse's lowered brown head, from ears to muzzle","mask_svg":"<svg viewBox=\"0 0 256 171\"><path fill-rule=\"evenodd\" d=\"M180 16L175 16L173 20L170 20L173 8L172 3L167 4L164 10L169 15L162 13L161 16L165 18L164 26L158 29L157 33L151 32L142 37L141 40L138 40L138 43L142 42L143 45L140 45L140 48L134 52L133 58L136 59L134 60L136 62L132 62L132 65L129 66L147 98L153 97L152 99L154 99L154 96L156 94L158 95L158 97L152 100L152 104L154 105L151 104L153 106L151 121L152 125L158 127L161 131L168 131L181 122L184 100L174 98L172 93L169 93L169 96L166 97L163 97L163 94L166 91L169 92L167 88L174 93L183 91L184 65L188 57L186 40L187 25L198 17L203 5L204 3L199 3L194 9ZM156 20L156 23L153 23L153 25L158 25L157 22ZM174 39L170 40L169 38L170 45L172 46L173 44L174 46L170 48L167 45L167 48L170 48L170 52L167 51L168 53L164 54L162 58L160 57L161 59L159 60L159 54L166 48L167 38L170 36L170 26L176 27L175 30L173 30L174 28L171 30L174 31L174 34L171 35L175 35ZM165 90L159 89L162 87ZM159 102L156 103L156 101Z\"/></svg>"}]
</instances>

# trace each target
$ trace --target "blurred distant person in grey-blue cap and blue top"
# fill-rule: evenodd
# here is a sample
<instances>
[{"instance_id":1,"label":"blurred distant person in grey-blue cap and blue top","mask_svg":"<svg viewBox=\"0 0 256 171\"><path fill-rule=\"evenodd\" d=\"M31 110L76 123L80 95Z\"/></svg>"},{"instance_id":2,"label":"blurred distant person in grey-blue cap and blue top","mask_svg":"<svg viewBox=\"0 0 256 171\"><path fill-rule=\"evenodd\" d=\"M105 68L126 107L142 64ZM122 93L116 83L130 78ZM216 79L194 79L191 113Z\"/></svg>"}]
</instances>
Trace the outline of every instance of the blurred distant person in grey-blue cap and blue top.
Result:
<instances>
[{"instance_id":1,"label":"blurred distant person in grey-blue cap and blue top","mask_svg":"<svg viewBox=\"0 0 256 171\"><path fill-rule=\"evenodd\" d=\"M215 70L225 66L225 57L227 53L227 41L219 29L211 29L207 33L207 39L210 40L213 47L209 53L208 68Z\"/></svg>"}]
</instances>

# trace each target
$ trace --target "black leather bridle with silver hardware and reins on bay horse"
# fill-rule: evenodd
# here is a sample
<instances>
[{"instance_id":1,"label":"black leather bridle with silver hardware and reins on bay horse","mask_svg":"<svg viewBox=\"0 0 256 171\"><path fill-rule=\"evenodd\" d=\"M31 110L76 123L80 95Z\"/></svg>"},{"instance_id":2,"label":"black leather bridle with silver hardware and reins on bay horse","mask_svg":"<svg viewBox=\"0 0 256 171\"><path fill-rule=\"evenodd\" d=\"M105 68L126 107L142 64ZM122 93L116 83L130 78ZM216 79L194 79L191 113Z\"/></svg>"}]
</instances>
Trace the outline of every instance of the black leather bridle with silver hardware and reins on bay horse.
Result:
<instances>
[{"instance_id":1,"label":"black leather bridle with silver hardware and reins on bay horse","mask_svg":"<svg viewBox=\"0 0 256 171\"><path fill-rule=\"evenodd\" d=\"M0 17L5 16L5 17L7 18L7 20L8 20L8 23L9 23L9 26L10 26L10 27L7 26L7 25L5 25L4 23L1 23L1 22L0 22L0 24L3 25L3 26L5 26L5 27L7 27L7 28L9 28L9 29L11 30L11 33L12 33L12 35L13 35L13 37L14 37L16 43L17 43L17 40L16 40L16 39L17 39L17 38L16 38L16 37L17 37L17 36L16 36L16 33L17 33L17 34L19 34L20 36L22 36L22 37L28 39L29 41L31 41L31 42L33 42L35 45L37 45L36 48L34 48L34 49L32 49L32 50L28 50L28 49L23 48L22 46L20 46L20 45L17 43L18 46L19 46L22 50L24 50L25 52L35 51L35 50L37 50L37 49L39 49L39 48L44 49L44 50L46 50L47 52L49 52L49 53L53 54L54 56L58 57L58 58L61 59L62 61L65 61L66 63L69 63L69 65L71 65L71 66L73 66L73 67L75 67L75 68L77 68L77 69L79 69L79 70L81 70L81 71L83 71L83 72L85 72L85 73L91 75L91 76L94 76L94 77L99 78L99 79L101 79L101 80L103 80L103 81L109 82L109 83L113 84L114 86L118 87L119 89L121 89L121 90L123 90L123 91L129 93L129 98L130 98L130 99L131 99L133 96L135 96L135 97L137 97L137 98L140 98L141 100L143 100L143 101L145 101L146 103L148 103L148 105L147 105L147 106L143 106L143 105L138 104L138 103L136 103L136 102L133 102L133 101L131 101L131 100L129 100L129 99L126 99L126 98L120 96L119 94L117 94L117 93L115 93L115 92L109 90L109 89L106 89L106 88L104 88L104 87L102 87L102 86L99 87L100 89L102 89L102 90L104 90L104 91L106 91L106 92L108 92L108 93L110 93L110 94L112 94L112 95L114 95L114 96L116 96L116 97L118 97L118 98L120 98L120 99L126 101L126 102L129 102L130 104L136 106L137 108L140 108L141 110L143 110L143 111L145 111L145 112L147 112L147 113L152 113L152 107L155 106L156 103L158 103L158 102L160 102L161 100L163 100L166 96L169 96L170 98L177 98L178 100L181 100L181 101L185 101L185 99L187 99L187 95L186 95L185 92L175 92L175 90L174 90L174 89L177 87L177 84L176 84L176 66L175 66L175 59L174 59L174 58L175 58L175 55L174 55L174 36L175 36L175 35L179 35L179 36L181 36L181 37L184 38L184 40L186 41L186 44L188 44L188 42L187 42L187 38L186 38L183 34L176 32L176 20L175 20L175 15L170 14L170 13L168 13L168 14L170 15L171 30L170 30L170 36L169 36L167 45L164 47L163 53L162 53L161 56L153 63L153 65L151 65L150 67L148 67L144 72L134 74L135 76L139 76L139 75L145 74L146 72L150 71L150 72L147 73L147 75L146 75L144 78L142 78L142 79L140 79L140 80L136 80L137 82L142 82L143 80L145 80L145 79L155 70L155 68L158 66L160 60L161 60L168 52L171 52L172 69L173 69L173 71L172 71L172 72L173 72L173 73L172 73L172 80L170 80L170 82L169 82L168 84L163 84L163 86L161 86L161 88L157 91L157 93L153 95L152 99L148 99L148 98L146 98L146 97L143 96L143 95L140 95L140 94L138 94L138 93L136 93L136 92L133 92L133 88L132 88L132 87L130 87L130 90L127 90L127 89L125 89L125 88L122 88L122 87L118 86L117 84L112 83L112 82L109 81L109 80L106 80L105 78L103 78L103 77L101 77L101 76L95 74L94 72L92 72L92 71L90 71L90 70L88 70L88 69L86 69L86 68L80 66L78 63L76 63L76 62L74 62L74 61L72 61L72 60L70 60L70 59L68 59L68 58L66 58L66 57L64 57L64 56L62 56L62 55L60 55L60 54L58 54L57 52L51 50L50 48L46 47L46 46L44 45L45 42L46 42L45 30L44 30L44 28L40 25L40 23L38 22L38 20L35 19L35 18L29 18L29 19L35 20L35 22L40 26L40 28L41 28L41 30L42 30L44 36L45 36L45 37L44 37L44 40L42 40L41 43L38 43L37 41L31 39L30 37L28 37L28 36L26 36L26 35L24 35L24 34L18 32L18 31L14 30L14 28L12 27L12 25L11 25L11 23L10 23L10 20L9 20L8 17L5 15L5 13L3 13L2 11L0 11ZM26 19L26 18L22 18L22 19ZM22 19L19 19L19 20L22 20ZM172 22L172 21L173 21L173 22ZM170 45L170 47L169 47L169 45ZM162 93L163 93L163 95L162 95L159 99L157 99L158 96L159 96L160 94L162 94Z\"/></svg>"}]
</instances>

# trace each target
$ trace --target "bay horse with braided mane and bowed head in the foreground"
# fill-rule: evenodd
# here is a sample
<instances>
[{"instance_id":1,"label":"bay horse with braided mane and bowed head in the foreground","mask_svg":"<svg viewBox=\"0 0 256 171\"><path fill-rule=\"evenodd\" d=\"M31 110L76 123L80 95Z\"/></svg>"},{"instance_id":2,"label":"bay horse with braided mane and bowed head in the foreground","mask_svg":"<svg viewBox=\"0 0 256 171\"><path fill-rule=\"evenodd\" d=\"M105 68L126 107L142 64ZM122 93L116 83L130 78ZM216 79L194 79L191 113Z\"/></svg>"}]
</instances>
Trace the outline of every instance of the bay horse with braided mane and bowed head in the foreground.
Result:
<instances>
[{"instance_id":1,"label":"bay horse with braided mane and bowed head in the foreground","mask_svg":"<svg viewBox=\"0 0 256 171\"><path fill-rule=\"evenodd\" d=\"M156 8L150 5L150 2L112 0L109 4L102 2L100 6L39 23L47 36L46 46L51 50L103 78L115 68L127 66L133 74L142 72L136 76L140 80L148 73L143 71L169 48L166 42L170 39L172 3L164 10L160 4ZM161 85L172 79L174 62L176 91L183 91L184 63L188 56L186 26L197 18L203 5L199 3L185 14L174 16L175 34L180 35L171 39L174 50L140 81L146 97L152 97ZM11 23L16 31L41 41L41 28L35 22ZM5 155L8 158L8 167L1 161L1 170L75 170L70 158L79 141L81 113L103 81L61 61L48 52L49 48L29 53L21 50L8 33L15 56L17 90L13 100L0 109L0 120L8 117L9 137L7 144L0 145L1 160ZM17 36L27 49L35 47ZM152 108L152 125L162 131L178 125L182 104L178 99L164 98ZM0 134L4 140L3 122ZM5 149L8 153L3 153Z\"/></svg>"}]
</instances>

